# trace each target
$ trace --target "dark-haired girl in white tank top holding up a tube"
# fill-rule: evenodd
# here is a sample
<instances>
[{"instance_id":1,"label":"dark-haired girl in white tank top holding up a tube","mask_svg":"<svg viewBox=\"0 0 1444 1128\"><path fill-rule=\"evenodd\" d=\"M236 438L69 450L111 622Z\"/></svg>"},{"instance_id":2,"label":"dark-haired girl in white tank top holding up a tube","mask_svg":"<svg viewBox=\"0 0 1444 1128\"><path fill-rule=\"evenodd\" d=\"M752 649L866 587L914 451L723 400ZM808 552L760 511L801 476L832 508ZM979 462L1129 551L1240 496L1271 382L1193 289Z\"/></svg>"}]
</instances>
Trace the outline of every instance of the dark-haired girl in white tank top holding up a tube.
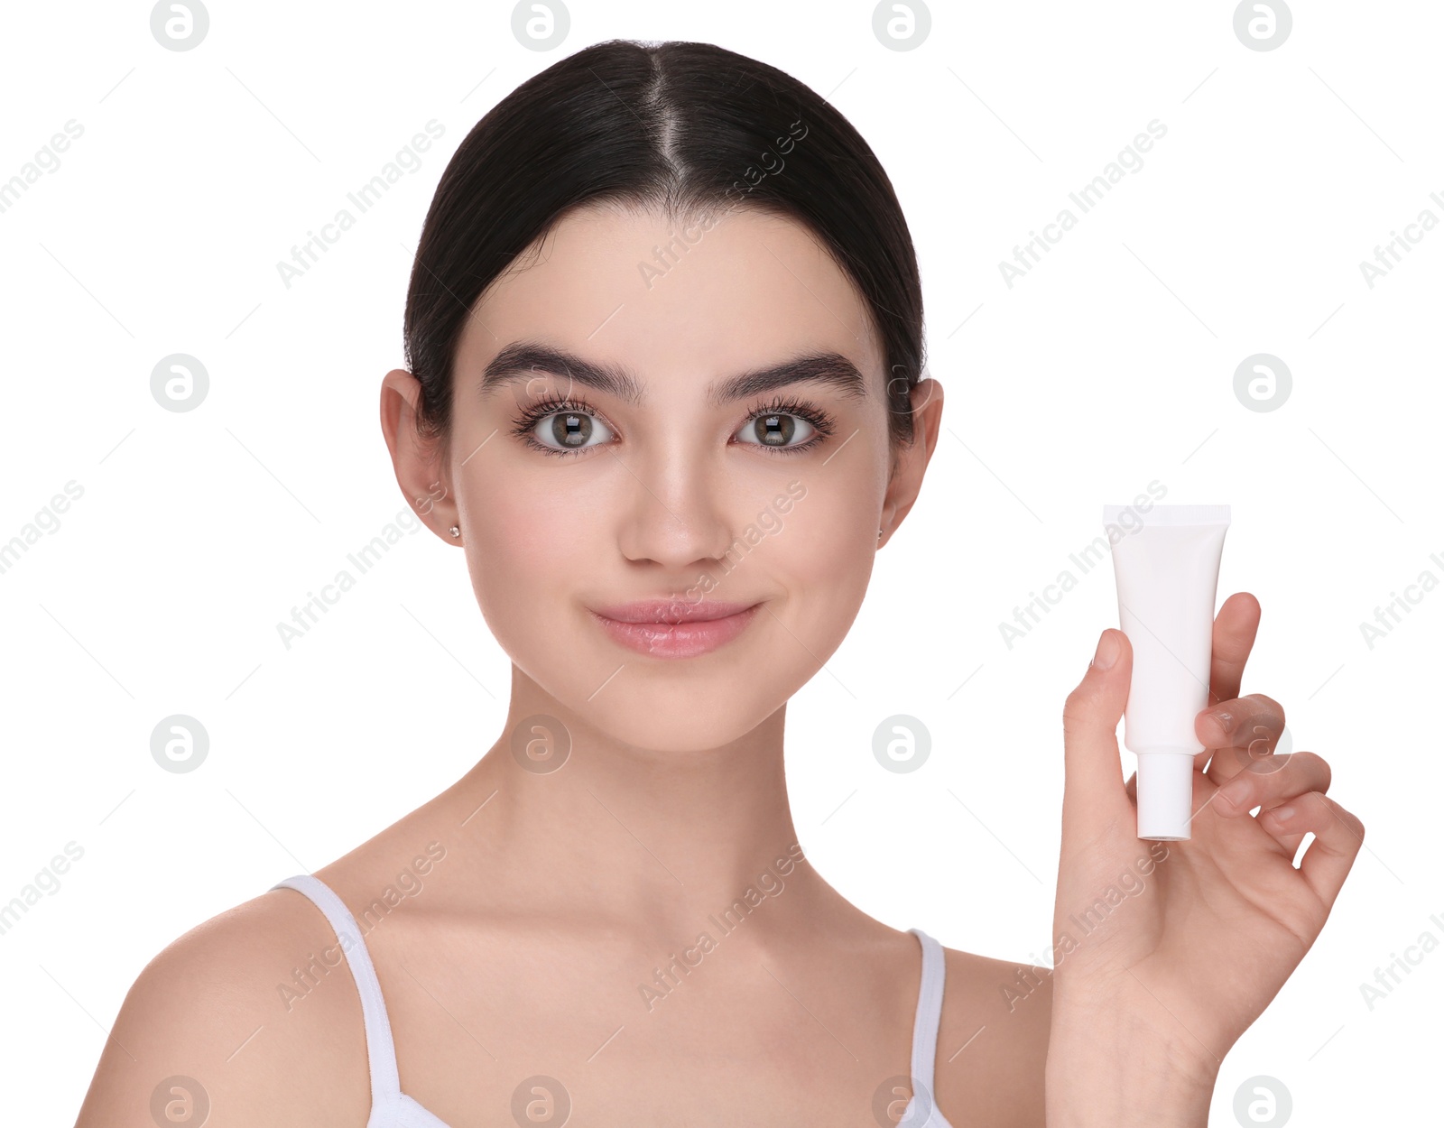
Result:
<instances>
[{"instance_id":1,"label":"dark-haired girl in white tank top holding up a tube","mask_svg":"<svg viewBox=\"0 0 1444 1128\"><path fill-rule=\"evenodd\" d=\"M1206 1124L1363 836L1239 696L1253 596L1216 620L1184 842L1136 838L1102 633L1063 708L1051 968L888 927L799 843L787 702L943 409L901 208L832 105L706 43L562 59L448 165L404 338L383 432L511 657L505 724L157 955L79 1128ZM1122 872L1142 891L1080 933Z\"/></svg>"}]
</instances>

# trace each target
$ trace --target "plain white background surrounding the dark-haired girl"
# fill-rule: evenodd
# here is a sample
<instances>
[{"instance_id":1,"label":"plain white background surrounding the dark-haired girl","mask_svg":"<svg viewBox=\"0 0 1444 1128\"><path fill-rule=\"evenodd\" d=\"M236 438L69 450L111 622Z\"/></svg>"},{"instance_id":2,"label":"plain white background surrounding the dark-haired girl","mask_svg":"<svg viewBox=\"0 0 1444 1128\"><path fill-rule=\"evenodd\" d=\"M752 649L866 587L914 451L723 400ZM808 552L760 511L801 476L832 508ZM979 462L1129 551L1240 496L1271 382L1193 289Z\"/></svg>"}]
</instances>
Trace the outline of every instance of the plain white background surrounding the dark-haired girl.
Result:
<instances>
[{"instance_id":1,"label":"plain white background surrounding the dark-haired girl","mask_svg":"<svg viewBox=\"0 0 1444 1128\"><path fill-rule=\"evenodd\" d=\"M1230 3L937 3L927 40L892 51L865 3L708 7L578 3L546 52L517 42L507 4L214 3L183 52L157 45L144 4L7 10L0 181L84 126L0 212L0 542L84 488L0 575L0 901L84 849L0 936L6 1072L26 1079L10 1119L74 1121L165 945L373 836L500 732L508 660L429 533L290 650L276 624L406 511L377 396L446 160L523 79L614 36L715 42L827 97L888 170L921 263L944 430L852 634L788 711L812 862L895 927L1044 962L1060 715L1118 625L1112 569L1011 648L999 622L1100 533L1103 503L1158 480L1170 503L1232 504L1219 601L1264 607L1243 692L1284 703L1367 841L1227 1054L1214 1122L1255 1075L1287 1085L1300 1125L1437 1114L1422 1046L1444 952L1372 1010L1360 985L1422 933L1444 939L1427 839L1444 592L1372 648L1360 622L1444 576L1444 231L1372 287L1360 261L1424 209L1444 220L1444 10L1298 3L1287 42L1255 51ZM420 169L283 286L277 261L430 118L445 134ZM1141 170L1009 287L999 263L1154 118L1167 134ZM189 413L150 394L172 352L209 373ZM1292 373L1276 410L1235 396L1255 352ZM150 757L170 713L209 734L193 773ZM931 734L918 771L872 757L892 713Z\"/></svg>"}]
</instances>

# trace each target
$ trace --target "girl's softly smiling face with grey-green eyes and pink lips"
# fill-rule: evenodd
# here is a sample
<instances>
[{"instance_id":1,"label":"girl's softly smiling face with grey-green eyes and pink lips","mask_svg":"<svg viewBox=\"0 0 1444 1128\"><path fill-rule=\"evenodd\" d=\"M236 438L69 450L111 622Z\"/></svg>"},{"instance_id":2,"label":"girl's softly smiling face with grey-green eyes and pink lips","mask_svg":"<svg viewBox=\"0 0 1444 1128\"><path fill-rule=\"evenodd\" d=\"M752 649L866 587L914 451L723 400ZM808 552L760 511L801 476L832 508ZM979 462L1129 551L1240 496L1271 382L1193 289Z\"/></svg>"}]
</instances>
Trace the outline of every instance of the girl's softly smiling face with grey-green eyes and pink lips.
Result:
<instances>
[{"instance_id":1,"label":"girl's softly smiling face with grey-green eyes and pink lips","mask_svg":"<svg viewBox=\"0 0 1444 1128\"><path fill-rule=\"evenodd\" d=\"M817 673L941 409L924 380L890 481L882 350L848 277L790 220L712 222L572 212L468 321L445 462L397 461L410 497L446 482L427 521L461 527L527 706L650 750L738 739ZM651 625L598 614L638 601Z\"/></svg>"}]
</instances>

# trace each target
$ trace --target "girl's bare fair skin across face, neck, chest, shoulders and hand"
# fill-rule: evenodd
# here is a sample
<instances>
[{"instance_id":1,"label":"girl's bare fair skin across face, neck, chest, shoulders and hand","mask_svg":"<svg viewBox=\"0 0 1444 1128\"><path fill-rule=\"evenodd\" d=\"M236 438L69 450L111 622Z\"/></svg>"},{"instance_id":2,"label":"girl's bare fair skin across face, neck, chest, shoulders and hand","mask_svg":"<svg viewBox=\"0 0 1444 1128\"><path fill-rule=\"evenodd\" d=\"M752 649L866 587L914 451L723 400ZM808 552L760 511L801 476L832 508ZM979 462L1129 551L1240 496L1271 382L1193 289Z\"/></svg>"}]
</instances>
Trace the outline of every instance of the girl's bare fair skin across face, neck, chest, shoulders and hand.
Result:
<instances>
[{"instance_id":1,"label":"girl's bare fair skin across face, neck, chest, shoulders and hand","mask_svg":"<svg viewBox=\"0 0 1444 1128\"><path fill-rule=\"evenodd\" d=\"M511 659L511 695L503 731L475 767L316 875L360 916L401 869L416 868L426 843L445 851L423 890L365 943L401 1088L453 1128L510 1124L513 1090L536 1073L562 1079L578 1122L589 1125L872 1124L878 1088L908 1072L918 943L849 904L809 862L778 864L800 838L783 732L787 700L846 635L874 553L918 495L943 391L933 380L918 384L917 439L891 451L885 365L866 306L806 230L729 212L647 287L637 264L653 261L673 230L647 212L586 208L523 256L466 324L449 443L419 436L409 373L387 373L381 387L403 495L443 545L462 550L487 628ZM479 394L488 361L520 339L625 364L644 399L569 387L565 373ZM788 389L832 417L832 436L813 449L778 454L738 441L760 409L706 400L713 380L823 350L848 357L868 394ZM549 391L585 394L615 442L602 443L598 429L596 445L578 456L526 446L513 426ZM796 442L807 435L801 428ZM781 527L735 569L721 566L790 482L806 493ZM448 533L453 524L461 537ZM718 581L709 596L762 601L742 635L702 657L624 650L586 609L682 594L702 573ZM1282 726L1269 699L1236 699L1255 627L1252 596L1233 596L1220 612L1214 687L1236 722L1222 731L1200 718L1200 738L1207 732L1222 748L1239 725L1274 739ZM1132 800L1116 742L1109 747L1128 660L1125 640L1125 657L1106 672L1092 667L1069 699L1061 916L1148 846L1132 836ZM440 686L416 703L439 705L455 708ZM513 754L514 734L537 735L537 715L550 718L542 724L549 747L567 750L552 771L524 770ZM1289 787L1327 787L1327 768L1320 780L1323 761L1310 755L1295 754L1297 770L1258 777L1271 789L1266 804ZM1225 770L1213 781L1200 776L1199 794ZM1162 1069L1170 1057L1187 1083L1167 1099L1212 1085L1187 1040L1141 1007L1109 1004L1110 992L1135 1001L1129 972L1173 992L1164 997L1175 1012L1222 1057L1323 920L1304 893L1311 875L1288 867L1288 841L1243 812L1210 804L1196 841L1170 845L1170 862L1151 878L1167 895L1131 903L1136 911L1110 920L1119 940L1070 955L1056 973L946 949L933 1096L954 1125L1044 1124L1045 1077L1048 1099L1063 1102L1048 1124L1082 1124L1128 1082L1136 1092L1139 1063ZM1170 869L1180 856L1187 868ZM640 985L653 969L700 932L716 937L709 916L760 887L765 871L781 874L777 894L648 1005ZM1219 916L1201 923L1200 882L1223 898ZM1251 901L1281 890L1282 929L1269 916L1276 900ZM1219 953L1240 927L1259 945L1246 947L1248 966L1232 960L1227 989L1199 991L1200 969L1220 978ZM321 976L289 1008L277 994L309 953L334 943L325 917L289 890L176 940L127 995L78 1125L152 1125L150 1093L173 1075L205 1086L215 1125L364 1124L365 1044L348 973ZM1009 1005L1002 988L1021 971L1038 986ZM1093 1060L1109 1040L1136 1057ZM1109 1122L1126 1122L1126 1111ZM1173 1121L1154 1121L1162 1122Z\"/></svg>"}]
</instances>

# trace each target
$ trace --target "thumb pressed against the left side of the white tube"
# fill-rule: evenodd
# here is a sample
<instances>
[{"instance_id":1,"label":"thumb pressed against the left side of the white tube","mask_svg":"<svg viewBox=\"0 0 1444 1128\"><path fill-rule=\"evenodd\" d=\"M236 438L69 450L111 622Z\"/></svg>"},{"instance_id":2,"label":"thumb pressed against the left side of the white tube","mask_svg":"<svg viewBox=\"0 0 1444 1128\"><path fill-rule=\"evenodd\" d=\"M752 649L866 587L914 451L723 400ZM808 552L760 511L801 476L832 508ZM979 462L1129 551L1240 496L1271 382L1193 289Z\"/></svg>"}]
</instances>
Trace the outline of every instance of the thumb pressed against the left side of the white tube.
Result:
<instances>
[{"instance_id":1,"label":"thumb pressed against the left side of the white tube","mask_svg":"<svg viewBox=\"0 0 1444 1128\"><path fill-rule=\"evenodd\" d=\"M1106 823L1132 816L1118 754L1118 722L1128 702L1134 647L1108 628L1077 689L1063 705L1063 822Z\"/></svg>"}]
</instances>

